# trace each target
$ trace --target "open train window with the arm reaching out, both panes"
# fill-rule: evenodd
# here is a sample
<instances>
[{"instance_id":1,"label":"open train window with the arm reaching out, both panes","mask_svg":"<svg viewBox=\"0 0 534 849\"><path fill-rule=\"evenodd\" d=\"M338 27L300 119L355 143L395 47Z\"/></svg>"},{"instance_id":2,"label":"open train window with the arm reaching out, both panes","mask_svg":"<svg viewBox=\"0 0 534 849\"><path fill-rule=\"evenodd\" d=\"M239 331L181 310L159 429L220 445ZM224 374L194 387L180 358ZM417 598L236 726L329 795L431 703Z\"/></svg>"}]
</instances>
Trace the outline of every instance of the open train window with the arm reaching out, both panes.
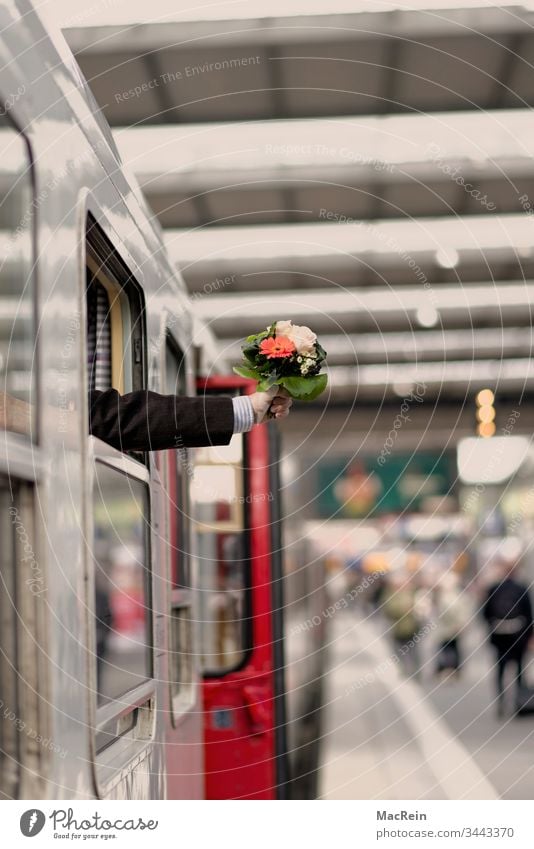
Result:
<instances>
[{"instance_id":1,"label":"open train window with the arm reaching out, both panes","mask_svg":"<svg viewBox=\"0 0 534 849\"><path fill-rule=\"evenodd\" d=\"M89 388L120 394L143 389L142 289L91 215L86 295ZM106 775L110 763L126 762L132 746L144 745L152 734L150 490L144 459L89 437L95 749Z\"/></svg>"}]
</instances>

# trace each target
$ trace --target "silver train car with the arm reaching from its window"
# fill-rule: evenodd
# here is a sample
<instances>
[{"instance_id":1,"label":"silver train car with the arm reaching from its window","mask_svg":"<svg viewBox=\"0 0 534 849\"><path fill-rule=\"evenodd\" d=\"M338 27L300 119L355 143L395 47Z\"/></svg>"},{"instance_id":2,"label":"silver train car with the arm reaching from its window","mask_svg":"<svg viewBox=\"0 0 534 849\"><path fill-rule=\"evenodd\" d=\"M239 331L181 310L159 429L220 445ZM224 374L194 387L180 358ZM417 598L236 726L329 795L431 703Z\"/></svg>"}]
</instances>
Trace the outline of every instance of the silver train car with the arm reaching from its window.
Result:
<instances>
[{"instance_id":1,"label":"silver train car with the arm reaching from its window","mask_svg":"<svg viewBox=\"0 0 534 849\"><path fill-rule=\"evenodd\" d=\"M195 394L191 304L66 42L17 9L0 4L0 798L204 798L190 481L87 434L88 287L120 392Z\"/></svg>"}]
</instances>

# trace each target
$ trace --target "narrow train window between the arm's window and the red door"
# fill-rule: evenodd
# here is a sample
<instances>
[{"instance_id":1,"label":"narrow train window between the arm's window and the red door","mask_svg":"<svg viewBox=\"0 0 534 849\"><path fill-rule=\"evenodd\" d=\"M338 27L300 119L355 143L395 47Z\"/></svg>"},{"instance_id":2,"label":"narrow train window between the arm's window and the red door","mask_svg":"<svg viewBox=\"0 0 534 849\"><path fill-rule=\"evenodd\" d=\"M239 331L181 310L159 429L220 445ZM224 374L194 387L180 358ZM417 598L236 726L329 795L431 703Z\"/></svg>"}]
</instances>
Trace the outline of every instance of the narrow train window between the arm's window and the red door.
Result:
<instances>
[{"instance_id":1,"label":"narrow train window between the arm's window and the red door","mask_svg":"<svg viewBox=\"0 0 534 849\"><path fill-rule=\"evenodd\" d=\"M165 346L165 392L187 394L185 360L171 336ZM190 455L184 446L167 452L170 555L169 672L173 721L188 706L195 679L189 555Z\"/></svg>"}]
</instances>

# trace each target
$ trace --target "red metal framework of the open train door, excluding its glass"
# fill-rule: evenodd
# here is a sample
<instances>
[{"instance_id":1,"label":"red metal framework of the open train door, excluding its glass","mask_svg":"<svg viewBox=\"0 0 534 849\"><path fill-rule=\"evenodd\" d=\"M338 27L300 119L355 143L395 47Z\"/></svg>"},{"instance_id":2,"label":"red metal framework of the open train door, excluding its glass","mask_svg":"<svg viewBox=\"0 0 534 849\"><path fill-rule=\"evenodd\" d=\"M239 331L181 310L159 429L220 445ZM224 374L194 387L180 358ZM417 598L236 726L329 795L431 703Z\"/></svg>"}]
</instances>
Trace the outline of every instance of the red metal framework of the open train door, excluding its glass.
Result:
<instances>
[{"instance_id":1,"label":"red metal framework of the open train door, excluding its glass","mask_svg":"<svg viewBox=\"0 0 534 849\"><path fill-rule=\"evenodd\" d=\"M250 393L255 390L255 383L239 377L216 377L199 385L201 390L223 392L236 387ZM269 492L269 442L264 427L255 427L246 438L247 495L253 496L249 502L253 648L242 669L204 681L208 799L276 798L271 502L266 497ZM260 497L254 498L254 495Z\"/></svg>"}]
</instances>

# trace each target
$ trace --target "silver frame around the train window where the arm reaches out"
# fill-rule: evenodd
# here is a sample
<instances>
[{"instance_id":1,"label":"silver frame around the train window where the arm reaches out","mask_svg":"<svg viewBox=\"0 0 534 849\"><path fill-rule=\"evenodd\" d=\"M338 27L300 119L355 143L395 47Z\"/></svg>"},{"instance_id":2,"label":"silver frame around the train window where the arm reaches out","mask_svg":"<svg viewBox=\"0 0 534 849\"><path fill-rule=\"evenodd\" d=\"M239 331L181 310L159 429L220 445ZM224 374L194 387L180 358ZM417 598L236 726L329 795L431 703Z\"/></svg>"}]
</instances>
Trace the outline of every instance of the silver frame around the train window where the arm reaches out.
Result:
<instances>
[{"instance_id":1,"label":"silver frame around the train window where the arm reaches out","mask_svg":"<svg viewBox=\"0 0 534 849\"><path fill-rule=\"evenodd\" d=\"M79 227L81 250L79 252L79 275L81 292L82 316L82 375L85 396L89 390L89 374L87 364L87 268L88 256L96 253L97 267L101 269L111 283L129 293L136 300L131 319L131 328L135 329L135 338L131 347L132 352L132 386L131 389L146 388L148 373L147 328L145 305L145 278L133 257L122 245L117 234L109 224L106 216L96 203L90 190L86 189L81 195L79 207ZM119 247L116 247L119 245ZM88 250L89 248L89 250ZM103 256L99 254L103 252ZM124 277L122 276L124 275ZM98 275L97 275L98 279ZM126 286L124 285L126 282ZM130 309L132 301L130 300ZM125 350L123 346L123 351ZM139 361L140 360L140 361ZM137 366L137 368L136 368ZM113 367L112 367L113 374ZM113 378L112 378L113 379ZM84 409L84 421L87 423L89 411ZM85 427L87 433L87 424ZM149 666L151 677L143 684L128 690L108 704L98 706L96 678L96 627L95 627L95 572L92 564L94 518L92 508L93 488L95 485L96 462L103 463L114 469L117 474L123 474L139 481L147 487L147 533L146 533L146 563L147 563L147 641L149 648ZM130 771L143 753L147 753L153 744L156 733L157 712L157 669L156 628L157 615L154 611L154 555L156 551L154 529L152 526L153 493L151 487L153 462L148 454L122 453L95 436L86 436L84 451L85 480L86 480L86 528L89 550L86 552L86 583L88 611L88 715L91 730L89 747L93 767L93 775L97 793L104 796L110 786L117 781L124 770ZM105 726L111 722L127 722L129 716L134 716L134 725L125 733L118 734L105 748L98 748L97 738ZM119 729L119 725L117 725Z\"/></svg>"}]
</instances>

